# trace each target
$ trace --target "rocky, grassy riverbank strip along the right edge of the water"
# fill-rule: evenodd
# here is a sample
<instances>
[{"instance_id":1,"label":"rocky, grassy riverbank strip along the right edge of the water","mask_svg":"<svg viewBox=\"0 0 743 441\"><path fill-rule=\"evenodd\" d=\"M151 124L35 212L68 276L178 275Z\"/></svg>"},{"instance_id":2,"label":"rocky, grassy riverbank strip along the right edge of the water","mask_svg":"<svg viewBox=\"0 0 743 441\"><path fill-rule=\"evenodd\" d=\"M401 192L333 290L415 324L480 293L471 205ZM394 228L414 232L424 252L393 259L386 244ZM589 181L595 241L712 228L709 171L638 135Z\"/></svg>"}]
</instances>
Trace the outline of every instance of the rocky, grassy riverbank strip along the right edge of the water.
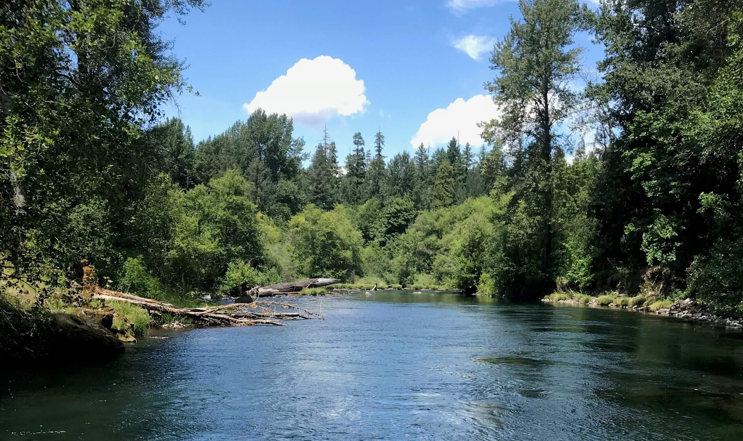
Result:
<instances>
[{"instance_id":1,"label":"rocky, grassy riverbank strip along the right edge of the water","mask_svg":"<svg viewBox=\"0 0 743 441\"><path fill-rule=\"evenodd\" d=\"M611 300L609 300L609 297ZM591 297L586 294L558 292L542 298L542 302L632 309L637 312L667 315L683 320L743 328L743 317L716 312L710 306L702 305L691 298L672 301L646 299L643 297L643 301L640 302L640 297L611 297L609 295Z\"/></svg>"}]
</instances>

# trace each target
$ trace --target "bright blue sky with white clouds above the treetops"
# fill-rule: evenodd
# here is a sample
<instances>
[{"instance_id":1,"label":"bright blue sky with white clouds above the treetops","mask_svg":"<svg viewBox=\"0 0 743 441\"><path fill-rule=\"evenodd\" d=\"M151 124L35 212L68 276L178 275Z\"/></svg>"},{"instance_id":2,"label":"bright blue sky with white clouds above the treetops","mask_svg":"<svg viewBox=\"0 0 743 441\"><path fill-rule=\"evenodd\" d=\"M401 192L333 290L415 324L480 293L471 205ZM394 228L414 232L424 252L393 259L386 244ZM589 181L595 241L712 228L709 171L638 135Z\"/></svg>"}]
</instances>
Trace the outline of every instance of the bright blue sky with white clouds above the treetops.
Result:
<instances>
[{"instance_id":1,"label":"bright blue sky with white clouds above the treetops","mask_svg":"<svg viewBox=\"0 0 743 441\"><path fill-rule=\"evenodd\" d=\"M487 59L510 15L519 16L515 1L213 0L160 31L201 94L178 100L195 141L262 106L293 115L305 151L323 124L343 155L354 132L370 145L380 127L391 156L458 130L461 144L481 144L474 124L495 110L477 95L496 74ZM577 43L594 68L600 48L587 35Z\"/></svg>"}]
</instances>

